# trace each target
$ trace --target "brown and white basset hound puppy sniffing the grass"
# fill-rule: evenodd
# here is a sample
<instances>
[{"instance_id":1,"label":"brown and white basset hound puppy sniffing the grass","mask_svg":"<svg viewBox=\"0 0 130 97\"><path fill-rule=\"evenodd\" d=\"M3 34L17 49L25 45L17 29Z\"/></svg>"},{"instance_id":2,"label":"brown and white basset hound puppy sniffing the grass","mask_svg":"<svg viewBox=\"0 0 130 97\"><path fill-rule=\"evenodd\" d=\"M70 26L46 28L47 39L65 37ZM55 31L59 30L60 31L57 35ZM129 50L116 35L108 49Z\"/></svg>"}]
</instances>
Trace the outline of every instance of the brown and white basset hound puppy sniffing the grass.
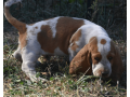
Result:
<instances>
[{"instance_id":1,"label":"brown and white basset hound puppy sniffing the grass","mask_svg":"<svg viewBox=\"0 0 130 97\"><path fill-rule=\"evenodd\" d=\"M96 77L119 80L122 72L120 54L107 32L99 25L82 18L58 16L35 24L25 24L10 14L10 6L21 0L9 0L4 15L18 30L18 47L14 57L22 61L22 70L32 82L36 61L41 55L69 55L69 73L93 72Z\"/></svg>"}]
</instances>

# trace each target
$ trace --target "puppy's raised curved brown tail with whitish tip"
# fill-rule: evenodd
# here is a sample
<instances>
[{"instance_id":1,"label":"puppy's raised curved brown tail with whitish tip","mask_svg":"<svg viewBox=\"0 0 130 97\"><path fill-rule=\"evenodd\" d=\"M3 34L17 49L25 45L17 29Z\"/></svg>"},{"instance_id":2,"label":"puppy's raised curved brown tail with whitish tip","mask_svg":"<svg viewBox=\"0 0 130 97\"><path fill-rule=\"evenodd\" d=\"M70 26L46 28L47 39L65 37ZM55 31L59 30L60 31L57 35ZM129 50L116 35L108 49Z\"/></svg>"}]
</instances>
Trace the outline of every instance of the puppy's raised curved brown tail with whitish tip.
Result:
<instances>
[{"instance_id":1,"label":"puppy's raised curved brown tail with whitish tip","mask_svg":"<svg viewBox=\"0 0 130 97\"><path fill-rule=\"evenodd\" d=\"M24 33L26 31L26 24L17 20L10 13L10 6L18 2L22 2L22 0L8 0L4 3L4 15L9 23L12 24L20 31L20 33Z\"/></svg>"}]
</instances>

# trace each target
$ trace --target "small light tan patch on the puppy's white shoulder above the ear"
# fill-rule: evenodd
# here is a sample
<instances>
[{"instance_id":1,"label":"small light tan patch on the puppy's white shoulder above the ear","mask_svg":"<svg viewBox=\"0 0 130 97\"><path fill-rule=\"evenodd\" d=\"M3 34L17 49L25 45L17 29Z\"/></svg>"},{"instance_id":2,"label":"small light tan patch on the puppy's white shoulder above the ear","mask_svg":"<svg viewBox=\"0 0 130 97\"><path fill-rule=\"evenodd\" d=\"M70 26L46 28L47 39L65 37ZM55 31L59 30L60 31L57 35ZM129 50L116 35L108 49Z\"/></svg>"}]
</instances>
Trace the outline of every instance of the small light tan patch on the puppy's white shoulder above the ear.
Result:
<instances>
[{"instance_id":1,"label":"small light tan patch on the puppy's white shoulder above the ear","mask_svg":"<svg viewBox=\"0 0 130 97\"><path fill-rule=\"evenodd\" d=\"M76 48L78 47L78 45L76 44L76 41L78 41L80 37L81 37L81 29L79 29L78 31L76 31L73 34L73 37L70 38L70 43L73 43L73 45L70 46L70 48L73 51L76 51Z\"/></svg>"}]
</instances>

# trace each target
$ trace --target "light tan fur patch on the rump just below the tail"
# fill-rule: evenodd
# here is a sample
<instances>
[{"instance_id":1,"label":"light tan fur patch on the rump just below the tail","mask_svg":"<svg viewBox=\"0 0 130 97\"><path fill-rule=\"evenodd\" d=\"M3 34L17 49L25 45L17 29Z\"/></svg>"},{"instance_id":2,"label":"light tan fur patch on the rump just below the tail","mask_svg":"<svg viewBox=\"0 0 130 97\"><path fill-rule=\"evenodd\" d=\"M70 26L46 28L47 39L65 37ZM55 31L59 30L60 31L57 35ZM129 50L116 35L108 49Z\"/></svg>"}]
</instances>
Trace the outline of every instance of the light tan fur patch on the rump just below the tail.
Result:
<instances>
[{"instance_id":1,"label":"light tan fur patch on the rump just below the tail","mask_svg":"<svg viewBox=\"0 0 130 97\"><path fill-rule=\"evenodd\" d=\"M18 34L20 34L18 40L20 40L20 42L21 42L21 50L22 50L22 48L25 47L26 44L27 44L27 40L26 40L26 38L27 38L27 32L25 32L25 33L18 33Z\"/></svg>"}]
</instances>

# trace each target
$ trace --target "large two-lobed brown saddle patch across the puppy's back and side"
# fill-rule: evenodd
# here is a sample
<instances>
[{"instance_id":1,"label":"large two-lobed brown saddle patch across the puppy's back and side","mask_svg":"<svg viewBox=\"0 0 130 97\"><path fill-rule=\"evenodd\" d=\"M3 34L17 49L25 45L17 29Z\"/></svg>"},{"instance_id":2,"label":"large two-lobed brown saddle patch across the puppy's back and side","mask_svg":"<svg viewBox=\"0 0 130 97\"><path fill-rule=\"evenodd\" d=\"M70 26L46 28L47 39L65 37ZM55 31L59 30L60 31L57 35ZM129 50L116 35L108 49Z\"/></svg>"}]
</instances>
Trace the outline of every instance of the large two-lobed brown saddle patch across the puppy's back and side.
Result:
<instances>
[{"instance_id":1,"label":"large two-lobed brown saddle patch across the puppy's back and side","mask_svg":"<svg viewBox=\"0 0 130 97\"><path fill-rule=\"evenodd\" d=\"M55 38L52 37L52 30L49 25L42 25L41 31L38 33L38 41L41 48L48 53L54 53L56 47L68 54L69 40L74 32L84 25L82 19L74 19L72 17L60 17L56 24Z\"/></svg>"}]
</instances>

